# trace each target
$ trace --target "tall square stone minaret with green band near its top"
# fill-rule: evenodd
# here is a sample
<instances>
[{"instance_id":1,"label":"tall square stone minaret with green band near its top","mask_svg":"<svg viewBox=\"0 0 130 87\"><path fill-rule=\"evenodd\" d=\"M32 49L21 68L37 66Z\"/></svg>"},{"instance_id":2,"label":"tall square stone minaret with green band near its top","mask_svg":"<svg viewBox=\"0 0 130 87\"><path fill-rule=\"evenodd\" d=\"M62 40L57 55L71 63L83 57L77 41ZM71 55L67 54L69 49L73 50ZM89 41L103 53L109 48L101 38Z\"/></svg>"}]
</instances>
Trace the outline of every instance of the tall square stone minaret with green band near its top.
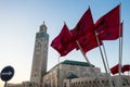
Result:
<instances>
[{"instance_id":1,"label":"tall square stone minaret with green band near its top","mask_svg":"<svg viewBox=\"0 0 130 87\"><path fill-rule=\"evenodd\" d=\"M43 22L39 32L36 34L30 82L40 84L43 75L47 73L48 45L49 35L47 34L47 26Z\"/></svg>"}]
</instances>

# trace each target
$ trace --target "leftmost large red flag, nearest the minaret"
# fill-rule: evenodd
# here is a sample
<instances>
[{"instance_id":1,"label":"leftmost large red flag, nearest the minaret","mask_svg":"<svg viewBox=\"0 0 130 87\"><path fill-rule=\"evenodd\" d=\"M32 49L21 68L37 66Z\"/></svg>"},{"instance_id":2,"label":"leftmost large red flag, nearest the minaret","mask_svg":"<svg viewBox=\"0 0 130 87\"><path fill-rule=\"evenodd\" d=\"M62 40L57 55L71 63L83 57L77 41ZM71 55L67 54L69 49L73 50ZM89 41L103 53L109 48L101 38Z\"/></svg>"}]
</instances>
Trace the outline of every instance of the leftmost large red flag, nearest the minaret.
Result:
<instances>
[{"instance_id":1,"label":"leftmost large red flag, nearest the minaret","mask_svg":"<svg viewBox=\"0 0 130 87\"><path fill-rule=\"evenodd\" d=\"M51 46L62 55L66 55L73 49L75 49L75 44L72 42L73 36L68 30L66 24L64 24L60 35L55 37Z\"/></svg>"}]
</instances>

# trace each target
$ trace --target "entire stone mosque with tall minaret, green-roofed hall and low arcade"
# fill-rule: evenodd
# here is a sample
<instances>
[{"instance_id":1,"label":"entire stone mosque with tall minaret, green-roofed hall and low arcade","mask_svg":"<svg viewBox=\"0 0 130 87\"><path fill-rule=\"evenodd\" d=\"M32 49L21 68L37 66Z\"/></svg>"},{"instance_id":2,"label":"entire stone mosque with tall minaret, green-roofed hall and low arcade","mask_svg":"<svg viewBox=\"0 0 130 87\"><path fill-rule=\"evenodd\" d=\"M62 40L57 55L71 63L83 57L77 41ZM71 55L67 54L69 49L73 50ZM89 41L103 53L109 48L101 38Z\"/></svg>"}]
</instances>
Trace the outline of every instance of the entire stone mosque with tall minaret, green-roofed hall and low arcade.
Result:
<instances>
[{"instance_id":1,"label":"entire stone mosque with tall minaret, green-roofed hall and low arcade","mask_svg":"<svg viewBox=\"0 0 130 87\"><path fill-rule=\"evenodd\" d=\"M49 34L43 23L36 34L30 80L8 87L119 87L118 75L102 73L87 62L65 60L47 71L48 47ZM130 76L121 75L121 87L130 87Z\"/></svg>"}]
</instances>

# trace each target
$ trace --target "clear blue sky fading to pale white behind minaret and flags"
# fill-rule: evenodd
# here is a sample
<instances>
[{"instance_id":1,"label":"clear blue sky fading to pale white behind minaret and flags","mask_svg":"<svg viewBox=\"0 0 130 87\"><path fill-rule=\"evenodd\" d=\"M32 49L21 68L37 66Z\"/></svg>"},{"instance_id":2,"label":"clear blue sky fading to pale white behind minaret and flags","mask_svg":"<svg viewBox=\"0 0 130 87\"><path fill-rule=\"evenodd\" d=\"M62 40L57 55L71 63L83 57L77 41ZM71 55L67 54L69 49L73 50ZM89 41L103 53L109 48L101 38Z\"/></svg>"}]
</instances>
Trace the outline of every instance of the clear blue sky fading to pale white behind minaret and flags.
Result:
<instances>
[{"instance_id":1,"label":"clear blue sky fading to pale white behind minaret and flags","mask_svg":"<svg viewBox=\"0 0 130 87\"><path fill-rule=\"evenodd\" d=\"M0 71L12 65L15 75L10 83L29 80L35 36L46 22L49 38L48 70L57 64L58 53L50 47L61 32L64 22L72 29L90 7L94 22L121 2L123 20L122 64L130 63L130 1L128 0L1 0L0 1ZM118 63L118 39L104 41L109 66ZM99 49L86 54L90 62L104 72ZM60 61L84 61L80 51L72 51ZM2 83L2 80L0 80Z\"/></svg>"}]
</instances>

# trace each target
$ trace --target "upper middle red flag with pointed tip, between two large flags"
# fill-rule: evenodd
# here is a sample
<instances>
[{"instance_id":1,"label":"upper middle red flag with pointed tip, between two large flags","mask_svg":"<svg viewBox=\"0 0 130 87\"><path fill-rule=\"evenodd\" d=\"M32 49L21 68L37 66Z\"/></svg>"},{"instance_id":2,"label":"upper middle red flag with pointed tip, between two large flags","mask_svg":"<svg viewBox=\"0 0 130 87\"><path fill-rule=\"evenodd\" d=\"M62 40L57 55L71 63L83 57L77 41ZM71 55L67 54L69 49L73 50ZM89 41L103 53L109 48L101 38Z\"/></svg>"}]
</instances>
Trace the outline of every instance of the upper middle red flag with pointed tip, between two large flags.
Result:
<instances>
[{"instance_id":1,"label":"upper middle red flag with pointed tip, between two large flags","mask_svg":"<svg viewBox=\"0 0 130 87\"><path fill-rule=\"evenodd\" d=\"M75 39L79 39L80 37L87 35L88 33L94 32L94 23L90 8L82 15L76 27L70 32Z\"/></svg>"}]
</instances>

